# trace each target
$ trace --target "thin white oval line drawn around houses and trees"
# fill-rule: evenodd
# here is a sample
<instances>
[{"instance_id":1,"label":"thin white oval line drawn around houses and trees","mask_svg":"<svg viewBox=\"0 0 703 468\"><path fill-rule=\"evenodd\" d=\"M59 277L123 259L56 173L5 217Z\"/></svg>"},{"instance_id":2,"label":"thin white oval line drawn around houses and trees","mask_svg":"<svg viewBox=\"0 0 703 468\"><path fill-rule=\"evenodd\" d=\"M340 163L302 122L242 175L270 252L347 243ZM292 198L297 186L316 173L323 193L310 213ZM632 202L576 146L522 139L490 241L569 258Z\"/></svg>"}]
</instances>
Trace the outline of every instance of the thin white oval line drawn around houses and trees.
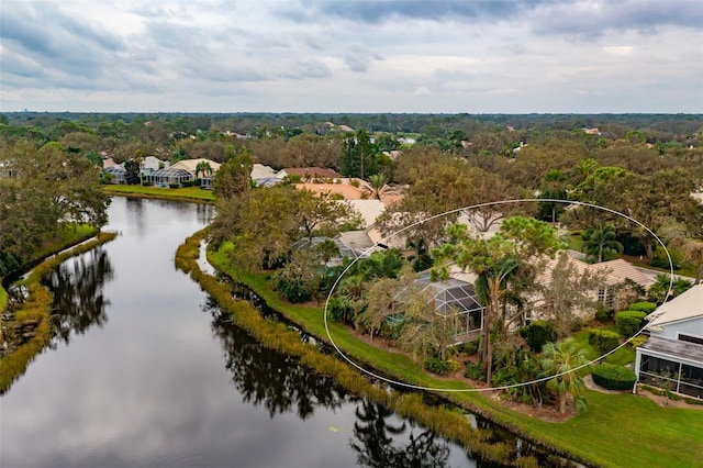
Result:
<instances>
[{"instance_id":1,"label":"thin white oval line drawn around houses and trees","mask_svg":"<svg viewBox=\"0 0 703 468\"><path fill-rule=\"evenodd\" d=\"M645 231L647 231L649 234L651 234L655 239L657 239L657 242L659 243L659 245L661 245L663 247L663 250L667 254L667 259L669 260L669 289L671 289L671 287L673 286L673 260L671 259L671 255L669 254L669 250L667 249L667 246L663 244L663 242L661 241L661 238L659 238L659 236L657 234L654 233L654 231L651 231L649 227L647 227L646 225L644 225L643 223L640 223L639 221L635 220L634 218L625 214L625 213L621 213L620 211L616 210L612 210L610 208L605 208L605 207L600 207L598 204L593 204L593 203L587 203L587 202L582 202L582 201L570 201L570 200L558 200L558 199L550 199L550 198L524 198L524 199L514 199L514 200L501 200L501 201L491 201L491 202L486 202L486 203L478 203L478 204L472 204L469 207L462 207L462 208L457 208L455 210L449 210L449 211L445 211L444 213L440 214L435 214L432 215L429 218L426 218L422 221L417 221L416 223L413 223L411 225L408 225L386 237L383 237L381 241L388 241L397 235L399 235L400 233L410 230L419 224L423 224L426 221L432 221L432 220L436 220L438 218L443 218L446 216L448 214L453 214L453 213L459 213L464 210L472 210L476 208L481 208L481 207L492 207L492 205L501 205L501 204L514 204L514 203L531 203L531 202L545 202L545 201L549 201L549 202L558 202L558 203L562 203L562 204L576 204L576 205L580 205L580 207L590 207L590 208L595 208L598 210L603 210L603 211L607 211L610 213L613 214L617 214L618 216L625 218L626 220L637 224L638 226L643 227ZM555 374L553 376L547 376L547 377L542 377L539 379L534 379L534 380L529 380L526 382L520 382L520 383L513 383L510 386L500 386L500 387L487 387L487 388L470 388L470 389L447 389L447 388L437 388L437 387L423 387L423 386L416 386L413 383L408 383L408 382L401 382L399 380L393 380L393 379L389 379L387 377L383 376L379 376L378 374L375 374L368 369L365 369L364 367L359 366L358 364L356 364L355 361L353 361L347 355L345 355L342 349L339 349L339 347L337 346L337 344L334 342L334 339L332 338L332 335L330 334L330 326L327 323L327 308L330 305L330 299L332 298L332 293L335 291L335 289L337 288L337 285L339 283L339 281L342 280L342 278L344 278L344 275L347 272L347 270L349 268L352 268L352 266L354 264L356 264L359 259L368 257L370 254L370 252L372 252L372 249L375 247L377 247L379 244L381 244L380 242L376 243L375 245L372 245L371 247L368 247L364 254L361 254L360 256L358 256L357 258L355 258L349 265L347 265L347 267L342 270L342 274L339 274L339 276L337 277L337 279L335 280L335 282L332 285L332 288L330 289L330 293L327 294L327 299L325 300L325 309L324 309L324 313L323 313L323 319L324 319L324 324L325 324L325 332L327 334L327 338L330 339L330 343L332 343L332 346L334 346L334 348L336 349L337 354L339 354L339 356L342 356L347 363L349 363L352 366L356 367L357 369L359 369L360 371L362 371L364 374L371 376L376 379L382 380L384 382L391 383L391 385L395 385L395 386L400 386L400 387L404 387L404 388L409 388L409 389L413 389L413 390L424 390L424 391L437 391L437 392L482 392L482 391L493 391L493 390L509 390L512 388L517 388L517 387L524 387L524 386L528 386L532 383L538 383L538 382L544 382L547 380L551 380L555 377L561 377L561 376L566 376L567 374L571 374L571 372L576 372L577 370L583 369L584 367L588 367L607 356L610 356L611 354L615 353L616 350L618 350L620 348L622 348L623 346L627 345L629 342L632 342L636 336L638 336L645 328L647 325L643 326L637 333L635 333L633 336L631 336L629 338L625 339L625 342L623 342L623 344L621 344L620 346L617 346L616 348L605 353L604 355L596 357L593 360L590 360L581 366L578 366L571 370L567 370L563 372L559 372L559 374ZM661 303L661 305L659 305L658 311L654 312L652 315L652 320L659 317L660 315L662 315L665 313L665 304L667 303L667 298L665 298L663 302Z\"/></svg>"}]
</instances>

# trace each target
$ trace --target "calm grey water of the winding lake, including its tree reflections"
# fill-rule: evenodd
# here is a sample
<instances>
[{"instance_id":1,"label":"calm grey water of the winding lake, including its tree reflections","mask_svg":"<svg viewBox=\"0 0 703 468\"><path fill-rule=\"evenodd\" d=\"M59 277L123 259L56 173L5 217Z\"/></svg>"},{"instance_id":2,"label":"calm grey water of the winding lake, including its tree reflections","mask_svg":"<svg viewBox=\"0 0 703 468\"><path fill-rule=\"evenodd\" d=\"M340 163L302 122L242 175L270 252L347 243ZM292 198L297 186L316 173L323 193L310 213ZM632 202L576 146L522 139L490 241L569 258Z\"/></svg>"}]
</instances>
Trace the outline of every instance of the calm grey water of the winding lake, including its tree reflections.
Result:
<instances>
[{"instance_id":1,"label":"calm grey water of the winding lake, including its tree reflections","mask_svg":"<svg viewBox=\"0 0 703 468\"><path fill-rule=\"evenodd\" d=\"M227 323L174 266L212 207L114 198L113 242L65 261L60 331L0 399L0 466L487 465Z\"/></svg>"}]
</instances>

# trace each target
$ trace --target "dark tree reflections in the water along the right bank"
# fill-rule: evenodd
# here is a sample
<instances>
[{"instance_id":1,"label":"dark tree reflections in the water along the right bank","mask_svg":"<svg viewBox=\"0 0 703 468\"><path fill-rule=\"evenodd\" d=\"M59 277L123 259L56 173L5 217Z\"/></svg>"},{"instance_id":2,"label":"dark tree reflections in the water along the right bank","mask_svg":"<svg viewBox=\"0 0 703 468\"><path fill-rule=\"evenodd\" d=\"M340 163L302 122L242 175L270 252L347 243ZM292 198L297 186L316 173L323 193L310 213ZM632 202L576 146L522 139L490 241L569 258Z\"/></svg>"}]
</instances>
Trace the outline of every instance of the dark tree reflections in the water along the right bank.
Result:
<instances>
[{"instance_id":1,"label":"dark tree reflections in the water along the right bank","mask_svg":"<svg viewBox=\"0 0 703 468\"><path fill-rule=\"evenodd\" d=\"M303 420L311 416L316 406L338 409L357 403L357 421L349 445L358 454L359 465L399 468L448 466L449 444L436 437L434 432L416 434L414 423L400 420L380 404L354 399L335 386L331 378L316 375L300 365L297 358L265 348L242 328L231 324L212 298L208 298L203 310L213 315L213 334L222 342L226 368L245 402L264 405L271 417L295 411Z\"/></svg>"}]
</instances>

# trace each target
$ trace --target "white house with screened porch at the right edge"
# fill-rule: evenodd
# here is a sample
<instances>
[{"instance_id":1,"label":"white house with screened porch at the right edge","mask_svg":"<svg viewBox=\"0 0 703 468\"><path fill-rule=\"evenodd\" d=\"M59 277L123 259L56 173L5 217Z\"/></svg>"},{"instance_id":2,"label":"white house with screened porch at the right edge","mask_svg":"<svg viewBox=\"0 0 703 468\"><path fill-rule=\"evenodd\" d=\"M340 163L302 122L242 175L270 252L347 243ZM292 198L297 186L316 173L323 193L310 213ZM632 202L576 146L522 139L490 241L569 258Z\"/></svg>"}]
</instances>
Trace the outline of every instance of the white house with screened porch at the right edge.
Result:
<instances>
[{"instance_id":1,"label":"white house with screened porch at the right edge","mask_svg":"<svg viewBox=\"0 0 703 468\"><path fill-rule=\"evenodd\" d=\"M703 399L703 283L646 319L649 338L636 348L637 381Z\"/></svg>"}]
</instances>

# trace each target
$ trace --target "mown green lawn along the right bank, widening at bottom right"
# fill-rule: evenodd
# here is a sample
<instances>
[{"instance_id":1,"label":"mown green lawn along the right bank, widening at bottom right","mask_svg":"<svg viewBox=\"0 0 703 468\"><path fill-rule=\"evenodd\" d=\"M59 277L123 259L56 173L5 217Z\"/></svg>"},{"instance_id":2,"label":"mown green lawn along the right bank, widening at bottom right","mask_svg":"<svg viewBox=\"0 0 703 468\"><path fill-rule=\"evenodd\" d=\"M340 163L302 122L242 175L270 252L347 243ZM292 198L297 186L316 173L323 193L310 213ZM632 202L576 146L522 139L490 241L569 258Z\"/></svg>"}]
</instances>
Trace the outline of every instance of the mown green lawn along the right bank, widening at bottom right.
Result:
<instances>
[{"instance_id":1,"label":"mown green lawn along the right bank, widening at bottom right","mask_svg":"<svg viewBox=\"0 0 703 468\"><path fill-rule=\"evenodd\" d=\"M222 252L210 254L217 268L249 285L270 307L300 324L309 333L327 341L322 308L291 305L272 291L261 274L234 270ZM359 342L344 326L332 324L337 346L359 364L371 364L379 374L423 387L461 389L466 383L439 379L399 353L388 353ZM577 339L588 345L588 332ZM594 355L593 357L598 357ZM632 360L632 350L618 352L610 361ZM438 392L439 393L439 392ZM605 394L588 390L588 409L565 423L549 423L515 412L476 392L440 392L444 398L472 409L528 438L573 454L604 467L691 467L703 459L703 411L660 408L645 397Z\"/></svg>"}]
</instances>

